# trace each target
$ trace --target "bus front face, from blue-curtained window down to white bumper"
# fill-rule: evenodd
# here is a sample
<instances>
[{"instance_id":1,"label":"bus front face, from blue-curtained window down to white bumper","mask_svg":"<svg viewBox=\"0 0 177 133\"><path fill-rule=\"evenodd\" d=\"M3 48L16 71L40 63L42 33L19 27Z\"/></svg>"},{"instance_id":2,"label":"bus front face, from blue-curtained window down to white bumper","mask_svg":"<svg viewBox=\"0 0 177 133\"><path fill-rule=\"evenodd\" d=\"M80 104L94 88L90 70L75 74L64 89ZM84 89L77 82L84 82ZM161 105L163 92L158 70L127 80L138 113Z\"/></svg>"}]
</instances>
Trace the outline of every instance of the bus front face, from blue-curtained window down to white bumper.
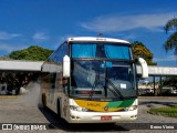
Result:
<instances>
[{"instance_id":1,"label":"bus front face, from blue-curtained window down to white bumper","mask_svg":"<svg viewBox=\"0 0 177 133\"><path fill-rule=\"evenodd\" d=\"M136 72L129 43L70 43L67 121L118 122L137 115Z\"/></svg>"}]
</instances>

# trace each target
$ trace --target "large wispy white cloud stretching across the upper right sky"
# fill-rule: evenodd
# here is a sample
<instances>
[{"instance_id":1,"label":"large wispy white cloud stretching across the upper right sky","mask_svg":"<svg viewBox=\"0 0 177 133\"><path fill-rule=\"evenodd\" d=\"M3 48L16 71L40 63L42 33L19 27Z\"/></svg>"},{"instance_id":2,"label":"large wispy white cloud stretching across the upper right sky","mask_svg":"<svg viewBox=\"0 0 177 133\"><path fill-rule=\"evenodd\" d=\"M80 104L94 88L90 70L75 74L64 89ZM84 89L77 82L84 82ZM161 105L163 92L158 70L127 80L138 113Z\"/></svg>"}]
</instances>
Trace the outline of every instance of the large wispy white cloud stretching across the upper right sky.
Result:
<instances>
[{"instance_id":1,"label":"large wispy white cloud stretching across the upper right sky","mask_svg":"<svg viewBox=\"0 0 177 133\"><path fill-rule=\"evenodd\" d=\"M175 12L162 12L149 14L103 16L90 22L83 22L81 27L96 32L121 32L136 28L159 31L159 27L164 27L175 14Z\"/></svg>"}]
</instances>

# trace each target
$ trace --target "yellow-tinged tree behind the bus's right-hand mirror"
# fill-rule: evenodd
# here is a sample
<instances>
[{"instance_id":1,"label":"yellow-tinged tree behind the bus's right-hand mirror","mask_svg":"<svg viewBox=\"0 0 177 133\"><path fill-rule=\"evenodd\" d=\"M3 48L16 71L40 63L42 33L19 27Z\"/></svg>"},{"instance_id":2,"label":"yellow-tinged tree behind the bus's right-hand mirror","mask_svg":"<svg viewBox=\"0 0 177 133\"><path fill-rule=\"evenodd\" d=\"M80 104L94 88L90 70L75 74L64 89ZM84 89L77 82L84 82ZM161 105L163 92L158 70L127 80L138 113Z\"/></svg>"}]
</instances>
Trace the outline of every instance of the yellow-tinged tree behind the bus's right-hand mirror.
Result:
<instances>
[{"instance_id":1,"label":"yellow-tinged tree behind the bus's right-hand mirror","mask_svg":"<svg viewBox=\"0 0 177 133\"><path fill-rule=\"evenodd\" d=\"M132 42L133 45L133 54L135 58L142 57L146 60L148 65L157 65L157 63L153 62L153 53L139 41Z\"/></svg>"}]
</instances>

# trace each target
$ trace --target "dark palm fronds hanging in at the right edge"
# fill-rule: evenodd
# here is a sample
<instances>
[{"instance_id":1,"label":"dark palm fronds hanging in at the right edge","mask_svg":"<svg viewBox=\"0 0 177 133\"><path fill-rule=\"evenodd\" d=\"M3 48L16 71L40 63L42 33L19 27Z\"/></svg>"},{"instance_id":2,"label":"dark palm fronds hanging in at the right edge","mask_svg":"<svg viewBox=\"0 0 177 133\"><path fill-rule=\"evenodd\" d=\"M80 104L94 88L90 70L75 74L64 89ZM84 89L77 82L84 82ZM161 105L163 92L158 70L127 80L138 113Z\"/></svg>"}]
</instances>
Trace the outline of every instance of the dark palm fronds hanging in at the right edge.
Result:
<instances>
[{"instance_id":1,"label":"dark palm fronds hanging in at the right edge","mask_svg":"<svg viewBox=\"0 0 177 133\"><path fill-rule=\"evenodd\" d=\"M164 44L166 52L175 50L174 53L177 55L177 18L168 20L164 29L166 33L174 31Z\"/></svg>"}]
</instances>

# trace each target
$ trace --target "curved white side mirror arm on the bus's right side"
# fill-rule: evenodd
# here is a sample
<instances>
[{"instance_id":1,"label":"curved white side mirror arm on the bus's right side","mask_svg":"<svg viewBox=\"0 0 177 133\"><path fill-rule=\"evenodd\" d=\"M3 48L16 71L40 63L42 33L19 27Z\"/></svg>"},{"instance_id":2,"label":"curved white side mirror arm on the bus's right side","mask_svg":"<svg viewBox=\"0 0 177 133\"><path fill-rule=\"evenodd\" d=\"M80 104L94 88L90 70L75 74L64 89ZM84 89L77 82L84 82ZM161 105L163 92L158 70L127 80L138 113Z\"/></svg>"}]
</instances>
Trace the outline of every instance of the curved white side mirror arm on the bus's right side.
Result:
<instances>
[{"instance_id":1,"label":"curved white side mirror arm on the bus's right side","mask_svg":"<svg viewBox=\"0 0 177 133\"><path fill-rule=\"evenodd\" d=\"M148 66L146 61L143 58L137 59L142 66L142 78L148 78Z\"/></svg>"}]
</instances>

